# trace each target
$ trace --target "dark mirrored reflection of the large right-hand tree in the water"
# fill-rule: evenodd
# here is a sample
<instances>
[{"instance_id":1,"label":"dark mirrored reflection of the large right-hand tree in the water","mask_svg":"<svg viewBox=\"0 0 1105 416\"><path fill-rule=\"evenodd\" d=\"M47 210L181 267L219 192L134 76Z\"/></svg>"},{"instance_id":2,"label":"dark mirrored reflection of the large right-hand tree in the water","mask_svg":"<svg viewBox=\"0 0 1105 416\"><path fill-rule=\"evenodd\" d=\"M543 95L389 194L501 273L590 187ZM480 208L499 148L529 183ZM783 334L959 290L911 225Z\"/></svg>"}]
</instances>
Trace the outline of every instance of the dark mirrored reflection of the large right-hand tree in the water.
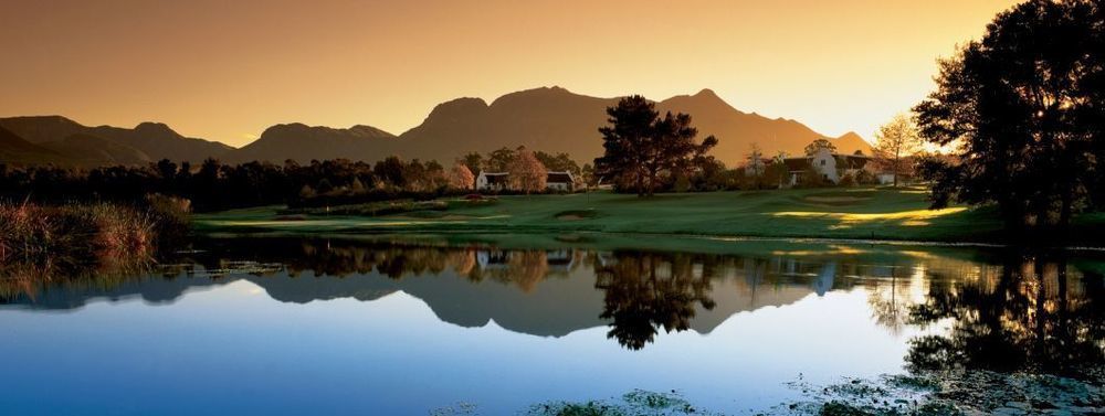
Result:
<instances>
[{"instance_id":1,"label":"dark mirrored reflection of the large right-hand tree in the water","mask_svg":"<svg viewBox=\"0 0 1105 416\"><path fill-rule=\"evenodd\" d=\"M1075 276L1072 276L1075 275ZM1036 371L1080 375L1105 364L1103 276L1063 258L1014 258L966 281L934 280L909 320L951 319L946 335L911 341L912 370Z\"/></svg>"}]
</instances>

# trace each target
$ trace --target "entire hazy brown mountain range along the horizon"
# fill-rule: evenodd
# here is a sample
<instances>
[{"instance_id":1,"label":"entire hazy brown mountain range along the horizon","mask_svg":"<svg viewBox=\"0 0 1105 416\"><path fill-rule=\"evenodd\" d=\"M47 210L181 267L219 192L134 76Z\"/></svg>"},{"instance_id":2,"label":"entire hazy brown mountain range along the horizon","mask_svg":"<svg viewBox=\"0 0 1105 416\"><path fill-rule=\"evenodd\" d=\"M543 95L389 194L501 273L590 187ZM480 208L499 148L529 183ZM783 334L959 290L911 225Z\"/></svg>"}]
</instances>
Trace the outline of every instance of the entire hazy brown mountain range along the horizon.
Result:
<instances>
[{"instance_id":1,"label":"entire hazy brown mountain range along the horizon","mask_svg":"<svg viewBox=\"0 0 1105 416\"><path fill-rule=\"evenodd\" d=\"M188 138L157 122L126 129L87 127L61 116L0 118L0 162L103 166L160 159L196 163L215 158L224 162L293 159L303 163L335 158L376 161L392 154L448 162L471 151L518 146L567 152L588 162L602 152L597 129L607 122L606 108L618 99L560 87L512 93L491 104L481 98L457 98L439 104L422 124L399 136L362 125L341 129L293 122L272 126L238 149ZM656 108L690 114L699 137L718 138L713 154L728 166L740 164L753 143L768 156L801 153L815 139L829 139L841 152L871 152L870 145L854 132L832 138L794 120L744 113L709 89L657 102Z\"/></svg>"}]
</instances>

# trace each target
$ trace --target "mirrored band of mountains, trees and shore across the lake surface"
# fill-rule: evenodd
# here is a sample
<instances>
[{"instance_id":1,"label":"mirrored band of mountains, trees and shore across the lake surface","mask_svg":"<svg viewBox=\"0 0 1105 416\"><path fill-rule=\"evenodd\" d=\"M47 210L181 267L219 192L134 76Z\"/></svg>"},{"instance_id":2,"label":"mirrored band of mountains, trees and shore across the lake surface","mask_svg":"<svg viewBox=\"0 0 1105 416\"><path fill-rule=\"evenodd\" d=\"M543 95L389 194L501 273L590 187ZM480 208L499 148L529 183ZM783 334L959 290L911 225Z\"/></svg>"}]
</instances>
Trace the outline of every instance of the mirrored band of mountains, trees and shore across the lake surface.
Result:
<instances>
[{"instance_id":1,"label":"mirrored band of mountains, trees and shore across the lake surface","mask_svg":"<svg viewBox=\"0 0 1105 416\"><path fill-rule=\"evenodd\" d=\"M461 327L494 321L543 337L607 327L608 338L641 350L661 330L707 334L741 311L861 290L872 321L887 332L936 329L908 341L912 370L1076 373L1105 363L1103 268L1086 255L799 243L733 244L715 254L328 239L199 246L206 250L157 273L4 278L0 303L31 310L70 310L95 299L170 303L236 280L295 303L375 301L403 291Z\"/></svg>"}]
</instances>

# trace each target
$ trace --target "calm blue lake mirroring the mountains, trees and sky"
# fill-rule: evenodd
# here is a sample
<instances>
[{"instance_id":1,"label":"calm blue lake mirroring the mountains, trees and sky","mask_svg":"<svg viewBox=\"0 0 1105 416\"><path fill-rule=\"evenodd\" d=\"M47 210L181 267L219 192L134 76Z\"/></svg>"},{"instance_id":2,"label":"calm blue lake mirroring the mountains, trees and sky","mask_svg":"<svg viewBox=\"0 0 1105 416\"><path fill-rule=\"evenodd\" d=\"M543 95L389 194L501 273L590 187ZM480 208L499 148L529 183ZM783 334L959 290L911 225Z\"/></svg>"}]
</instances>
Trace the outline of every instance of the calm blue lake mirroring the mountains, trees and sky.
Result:
<instances>
[{"instance_id":1,"label":"calm blue lake mirroring the mountains, trees and sky","mask_svg":"<svg viewBox=\"0 0 1105 416\"><path fill-rule=\"evenodd\" d=\"M1105 362L1094 253L693 246L217 239L7 276L0 413L498 415L638 390L774 413L796 382Z\"/></svg>"}]
</instances>

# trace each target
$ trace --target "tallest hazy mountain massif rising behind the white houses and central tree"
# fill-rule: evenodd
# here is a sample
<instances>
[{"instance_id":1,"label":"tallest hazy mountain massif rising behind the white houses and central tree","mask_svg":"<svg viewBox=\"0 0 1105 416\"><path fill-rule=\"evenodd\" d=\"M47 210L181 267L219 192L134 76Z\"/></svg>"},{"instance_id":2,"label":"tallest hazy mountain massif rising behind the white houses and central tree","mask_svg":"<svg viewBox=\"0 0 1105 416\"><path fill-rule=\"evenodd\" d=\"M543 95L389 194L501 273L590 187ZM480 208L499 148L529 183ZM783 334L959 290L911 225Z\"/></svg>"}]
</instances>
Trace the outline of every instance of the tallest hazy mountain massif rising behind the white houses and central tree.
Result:
<instances>
[{"instance_id":1,"label":"tallest hazy mountain massif rising behind the white houses and central tree","mask_svg":"<svg viewBox=\"0 0 1105 416\"><path fill-rule=\"evenodd\" d=\"M559 87L507 94L491 105L478 98L460 98L439 105L418 127L399 136L398 154L452 160L466 151L490 151L520 145L545 151L568 152L590 161L602 152L598 128L606 125L606 108L618 98L596 98ZM661 111L686 113L699 138L719 139L714 156L729 166L744 161L751 143L765 154L799 154L815 139L829 139L841 152L871 147L854 134L827 137L787 119L769 119L733 108L714 92L676 96L656 104Z\"/></svg>"}]
</instances>

